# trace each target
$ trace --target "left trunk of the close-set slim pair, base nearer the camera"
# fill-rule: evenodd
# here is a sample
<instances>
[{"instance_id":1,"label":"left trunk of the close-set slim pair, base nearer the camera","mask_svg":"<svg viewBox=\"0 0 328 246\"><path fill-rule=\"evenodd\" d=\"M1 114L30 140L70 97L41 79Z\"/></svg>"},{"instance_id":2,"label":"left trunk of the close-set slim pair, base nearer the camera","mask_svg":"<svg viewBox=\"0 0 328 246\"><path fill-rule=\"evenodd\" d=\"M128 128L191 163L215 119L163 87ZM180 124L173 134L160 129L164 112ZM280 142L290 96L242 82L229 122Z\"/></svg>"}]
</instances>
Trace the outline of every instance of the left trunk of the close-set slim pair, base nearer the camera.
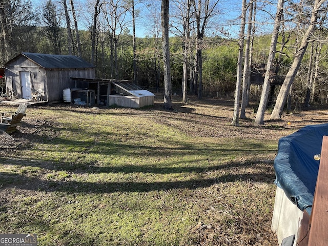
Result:
<instances>
[{"instance_id":1,"label":"left trunk of the close-set slim pair, base nearer the camera","mask_svg":"<svg viewBox=\"0 0 328 246\"><path fill-rule=\"evenodd\" d=\"M238 53L238 63L237 63L237 80L235 89L235 103L234 103L234 115L232 119L232 125L239 126L239 97L241 88L241 77L242 77L242 55L244 49L244 35L245 35L245 18L246 18L246 0L242 0L241 7L241 25L239 31L239 53Z\"/></svg>"}]
</instances>

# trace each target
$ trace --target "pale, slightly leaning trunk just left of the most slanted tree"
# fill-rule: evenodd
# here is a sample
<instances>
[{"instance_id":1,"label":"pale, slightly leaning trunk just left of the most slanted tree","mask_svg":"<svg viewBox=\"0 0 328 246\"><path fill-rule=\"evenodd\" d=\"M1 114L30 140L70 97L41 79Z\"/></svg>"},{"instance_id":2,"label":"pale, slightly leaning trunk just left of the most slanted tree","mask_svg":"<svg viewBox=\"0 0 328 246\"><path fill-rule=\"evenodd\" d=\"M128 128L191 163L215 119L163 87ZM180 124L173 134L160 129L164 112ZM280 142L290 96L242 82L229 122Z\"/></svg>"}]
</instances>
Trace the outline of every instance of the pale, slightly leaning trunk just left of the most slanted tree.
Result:
<instances>
[{"instance_id":1,"label":"pale, slightly leaning trunk just left of the most slanted tree","mask_svg":"<svg viewBox=\"0 0 328 246\"><path fill-rule=\"evenodd\" d=\"M260 103L257 109L256 118L255 118L255 124L263 125L264 124L264 113L265 109L267 108L268 104L268 98L269 98L269 92L270 92L270 84L271 84L271 77L272 77L272 71L273 69L273 60L275 58L276 54L276 46L277 46L277 40L279 35L279 29L280 29L280 22L283 15L283 2L284 0L278 0L277 3L277 13L275 16L275 24L273 28L273 33L271 37L271 45L270 45L270 51L269 51L269 57L267 61L267 67L265 71L265 77L264 77L264 83L262 87L262 93L261 93L261 99Z\"/></svg>"}]
</instances>

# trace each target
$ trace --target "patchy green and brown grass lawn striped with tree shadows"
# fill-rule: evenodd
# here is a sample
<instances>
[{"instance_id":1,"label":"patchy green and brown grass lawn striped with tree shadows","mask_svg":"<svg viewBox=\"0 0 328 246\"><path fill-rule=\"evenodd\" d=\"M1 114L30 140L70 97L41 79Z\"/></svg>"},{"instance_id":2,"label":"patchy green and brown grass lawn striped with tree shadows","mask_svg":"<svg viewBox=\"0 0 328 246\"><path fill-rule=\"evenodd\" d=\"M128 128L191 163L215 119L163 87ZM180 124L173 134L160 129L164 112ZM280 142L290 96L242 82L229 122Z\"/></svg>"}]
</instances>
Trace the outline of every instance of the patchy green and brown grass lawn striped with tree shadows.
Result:
<instances>
[{"instance_id":1,"label":"patchy green and brown grass lawn striped with tree shadows","mask_svg":"<svg viewBox=\"0 0 328 246\"><path fill-rule=\"evenodd\" d=\"M277 142L298 128L231 126L233 104L28 108L0 136L0 233L39 245L277 245ZM15 110L1 107L0 111Z\"/></svg>"}]
</instances>

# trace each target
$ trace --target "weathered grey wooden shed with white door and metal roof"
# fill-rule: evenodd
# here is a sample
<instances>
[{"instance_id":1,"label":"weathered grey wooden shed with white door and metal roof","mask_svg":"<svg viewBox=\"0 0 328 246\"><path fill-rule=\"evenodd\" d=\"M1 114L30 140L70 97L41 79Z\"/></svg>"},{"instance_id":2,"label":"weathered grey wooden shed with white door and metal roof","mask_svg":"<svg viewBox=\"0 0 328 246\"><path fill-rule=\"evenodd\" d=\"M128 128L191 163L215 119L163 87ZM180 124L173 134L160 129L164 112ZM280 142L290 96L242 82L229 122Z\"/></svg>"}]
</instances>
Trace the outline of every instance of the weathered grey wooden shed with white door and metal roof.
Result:
<instances>
[{"instance_id":1,"label":"weathered grey wooden shed with white door and metal roof","mask_svg":"<svg viewBox=\"0 0 328 246\"><path fill-rule=\"evenodd\" d=\"M63 100L63 89L74 88L71 77L95 78L95 68L73 55L21 53L5 64L7 90L18 98L32 99L42 90L42 100Z\"/></svg>"}]
</instances>

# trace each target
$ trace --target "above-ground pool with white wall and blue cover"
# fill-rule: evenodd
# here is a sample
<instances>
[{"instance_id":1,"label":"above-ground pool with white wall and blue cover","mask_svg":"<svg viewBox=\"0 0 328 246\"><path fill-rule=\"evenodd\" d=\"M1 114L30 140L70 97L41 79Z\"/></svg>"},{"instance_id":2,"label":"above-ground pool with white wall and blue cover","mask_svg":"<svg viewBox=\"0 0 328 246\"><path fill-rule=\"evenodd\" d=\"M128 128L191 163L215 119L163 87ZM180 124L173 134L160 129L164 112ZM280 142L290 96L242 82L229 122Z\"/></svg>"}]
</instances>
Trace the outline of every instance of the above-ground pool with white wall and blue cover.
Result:
<instances>
[{"instance_id":1,"label":"above-ground pool with white wall and blue cover","mask_svg":"<svg viewBox=\"0 0 328 246\"><path fill-rule=\"evenodd\" d=\"M271 229L283 238L298 236L303 211L311 214L320 160L322 138L328 124L306 126L279 139L274 160L277 185ZM293 245L296 245L296 240Z\"/></svg>"}]
</instances>

